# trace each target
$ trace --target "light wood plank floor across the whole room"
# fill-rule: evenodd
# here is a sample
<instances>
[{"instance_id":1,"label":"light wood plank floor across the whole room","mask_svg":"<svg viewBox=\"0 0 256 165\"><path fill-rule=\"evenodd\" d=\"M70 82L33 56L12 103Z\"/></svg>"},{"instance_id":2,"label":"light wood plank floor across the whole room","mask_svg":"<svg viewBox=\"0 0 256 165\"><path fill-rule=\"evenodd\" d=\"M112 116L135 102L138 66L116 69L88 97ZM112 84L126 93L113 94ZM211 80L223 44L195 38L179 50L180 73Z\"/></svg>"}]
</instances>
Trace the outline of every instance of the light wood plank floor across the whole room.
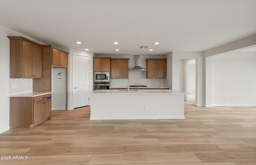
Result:
<instances>
[{"instance_id":1,"label":"light wood plank floor across the whole room","mask_svg":"<svg viewBox=\"0 0 256 165\"><path fill-rule=\"evenodd\" d=\"M90 121L90 107L53 111L0 134L0 165L256 165L256 107L196 107L185 119Z\"/></svg>"}]
</instances>

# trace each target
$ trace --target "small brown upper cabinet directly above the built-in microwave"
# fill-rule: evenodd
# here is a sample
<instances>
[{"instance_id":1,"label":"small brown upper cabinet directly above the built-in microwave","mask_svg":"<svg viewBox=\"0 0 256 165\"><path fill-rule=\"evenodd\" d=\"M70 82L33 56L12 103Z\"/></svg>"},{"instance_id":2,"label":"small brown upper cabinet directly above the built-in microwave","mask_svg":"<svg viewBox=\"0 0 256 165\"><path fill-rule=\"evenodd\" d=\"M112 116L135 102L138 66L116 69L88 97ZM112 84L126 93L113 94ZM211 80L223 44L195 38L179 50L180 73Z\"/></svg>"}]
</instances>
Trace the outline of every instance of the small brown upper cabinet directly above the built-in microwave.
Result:
<instances>
[{"instance_id":1,"label":"small brown upper cabinet directly above the built-in microwave","mask_svg":"<svg viewBox=\"0 0 256 165\"><path fill-rule=\"evenodd\" d=\"M110 58L93 58L94 72L110 72Z\"/></svg>"}]
</instances>

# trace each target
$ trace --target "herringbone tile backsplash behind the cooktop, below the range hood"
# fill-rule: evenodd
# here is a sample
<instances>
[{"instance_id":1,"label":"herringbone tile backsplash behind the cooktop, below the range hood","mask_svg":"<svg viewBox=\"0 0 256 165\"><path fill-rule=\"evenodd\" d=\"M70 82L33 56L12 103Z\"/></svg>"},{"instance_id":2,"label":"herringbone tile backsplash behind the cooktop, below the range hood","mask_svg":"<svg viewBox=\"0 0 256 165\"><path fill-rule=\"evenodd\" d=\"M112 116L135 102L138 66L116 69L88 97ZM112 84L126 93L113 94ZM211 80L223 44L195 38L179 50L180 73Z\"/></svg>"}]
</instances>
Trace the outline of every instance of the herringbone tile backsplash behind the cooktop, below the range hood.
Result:
<instances>
[{"instance_id":1,"label":"herringbone tile backsplash behind the cooktop, below the range hood","mask_svg":"<svg viewBox=\"0 0 256 165\"><path fill-rule=\"evenodd\" d=\"M166 79L147 79L145 71L129 71L130 85L146 85L148 87L164 87ZM110 87L128 85L128 79L111 79Z\"/></svg>"}]
</instances>

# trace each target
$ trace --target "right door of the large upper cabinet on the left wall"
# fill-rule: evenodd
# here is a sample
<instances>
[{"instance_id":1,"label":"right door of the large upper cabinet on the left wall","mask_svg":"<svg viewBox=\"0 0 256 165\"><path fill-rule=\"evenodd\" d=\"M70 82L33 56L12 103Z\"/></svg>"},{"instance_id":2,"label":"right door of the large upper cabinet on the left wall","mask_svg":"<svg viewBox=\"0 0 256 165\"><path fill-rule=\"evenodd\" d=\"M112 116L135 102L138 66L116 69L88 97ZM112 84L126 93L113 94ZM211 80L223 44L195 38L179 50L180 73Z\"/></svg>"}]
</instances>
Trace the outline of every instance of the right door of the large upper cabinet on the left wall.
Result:
<instances>
[{"instance_id":1,"label":"right door of the large upper cabinet on the left wall","mask_svg":"<svg viewBox=\"0 0 256 165\"><path fill-rule=\"evenodd\" d=\"M33 46L32 59L33 78L42 78L42 47Z\"/></svg>"}]
</instances>

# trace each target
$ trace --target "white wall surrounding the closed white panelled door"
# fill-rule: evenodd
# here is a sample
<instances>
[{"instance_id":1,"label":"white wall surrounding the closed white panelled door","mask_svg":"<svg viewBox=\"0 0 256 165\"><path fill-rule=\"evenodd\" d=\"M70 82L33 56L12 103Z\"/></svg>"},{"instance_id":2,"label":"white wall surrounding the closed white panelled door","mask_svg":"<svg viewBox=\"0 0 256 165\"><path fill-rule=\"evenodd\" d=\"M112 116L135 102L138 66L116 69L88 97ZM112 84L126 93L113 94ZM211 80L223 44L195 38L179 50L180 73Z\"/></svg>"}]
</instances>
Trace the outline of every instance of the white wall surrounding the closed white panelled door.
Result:
<instances>
[{"instance_id":1,"label":"white wall surrounding the closed white panelled door","mask_svg":"<svg viewBox=\"0 0 256 165\"><path fill-rule=\"evenodd\" d=\"M90 92L93 90L93 53L70 48L68 55L68 110L74 109L73 103L73 55L90 57Z\"/></svg>"}]
</instances>

